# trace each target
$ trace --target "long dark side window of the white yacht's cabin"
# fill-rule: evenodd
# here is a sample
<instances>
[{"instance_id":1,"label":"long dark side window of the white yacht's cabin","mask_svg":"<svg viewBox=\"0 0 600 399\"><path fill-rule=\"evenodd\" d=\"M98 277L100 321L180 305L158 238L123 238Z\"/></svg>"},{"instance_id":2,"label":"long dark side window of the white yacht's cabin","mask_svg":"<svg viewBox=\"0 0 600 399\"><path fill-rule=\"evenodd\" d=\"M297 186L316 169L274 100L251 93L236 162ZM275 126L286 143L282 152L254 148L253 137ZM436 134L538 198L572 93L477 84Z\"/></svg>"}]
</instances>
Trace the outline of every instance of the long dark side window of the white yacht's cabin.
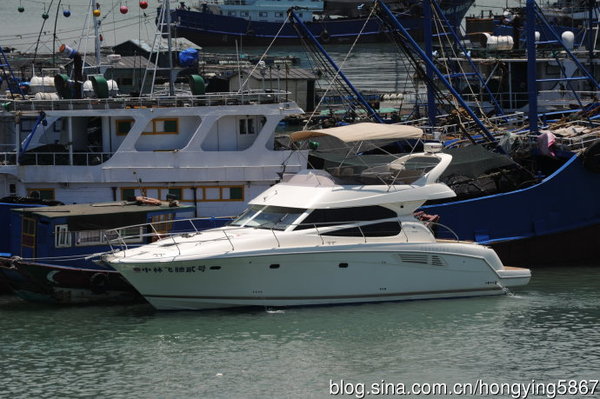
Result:
<instances>
[{"instance_id":1,"label":"long dark side window of the white yacht's cabin","mask_svg":"<svg viewBox=\"0 0 600 399\"><path fill-rule=\"evenodd\" d=\"M296 229L311 229L314 225L326 226L339 223L375 221L396 217L396 212L383 206L359 206L353 208L315 209Z\"/></svg>"}]
</instances>

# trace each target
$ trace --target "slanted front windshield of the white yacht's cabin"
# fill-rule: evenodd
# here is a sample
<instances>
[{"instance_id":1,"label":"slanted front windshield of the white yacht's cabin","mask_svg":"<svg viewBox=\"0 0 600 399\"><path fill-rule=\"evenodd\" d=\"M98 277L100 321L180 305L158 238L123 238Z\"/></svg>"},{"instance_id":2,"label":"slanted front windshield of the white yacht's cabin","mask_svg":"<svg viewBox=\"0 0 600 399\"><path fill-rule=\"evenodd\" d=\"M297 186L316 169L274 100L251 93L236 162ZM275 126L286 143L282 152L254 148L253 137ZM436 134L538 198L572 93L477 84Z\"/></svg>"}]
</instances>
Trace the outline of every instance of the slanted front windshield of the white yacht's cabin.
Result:
<instances>
[{"instance_id":1,"label":"slanted front windshield of the white yacht's cabin","mask_svg":"<svg viewBox=\"0 0 600 399\"><path fill-rule=\"evenodd\" d=\"M261 229L285 230L292 225L306 209L284 208L281 206L250 206L231 225L258 227Z\"/></svg>"}]
</instances>

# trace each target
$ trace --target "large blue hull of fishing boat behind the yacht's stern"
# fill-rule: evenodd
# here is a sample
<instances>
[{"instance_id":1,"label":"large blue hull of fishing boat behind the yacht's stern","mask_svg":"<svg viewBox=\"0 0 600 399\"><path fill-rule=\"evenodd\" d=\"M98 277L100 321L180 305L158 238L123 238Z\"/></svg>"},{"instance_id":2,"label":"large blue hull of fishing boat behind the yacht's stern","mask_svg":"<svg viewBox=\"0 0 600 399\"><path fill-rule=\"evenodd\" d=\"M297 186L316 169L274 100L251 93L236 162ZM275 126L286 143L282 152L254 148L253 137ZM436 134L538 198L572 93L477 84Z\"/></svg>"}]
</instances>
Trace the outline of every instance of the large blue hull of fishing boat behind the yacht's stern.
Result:
<instances>
[{"instance_id":1,"label":"large blue hull of fishing boat behind the yacht's stern","mask_svg":"<svg viewBox=\"0 0 600 399\"><path fill-rule=\"evenodd\" d=\"M574 155L534 186L422 209L439 215L460 239L491 245L505 263L597 262L599 198L600 174Z\"/></svg>"}]
</instances>

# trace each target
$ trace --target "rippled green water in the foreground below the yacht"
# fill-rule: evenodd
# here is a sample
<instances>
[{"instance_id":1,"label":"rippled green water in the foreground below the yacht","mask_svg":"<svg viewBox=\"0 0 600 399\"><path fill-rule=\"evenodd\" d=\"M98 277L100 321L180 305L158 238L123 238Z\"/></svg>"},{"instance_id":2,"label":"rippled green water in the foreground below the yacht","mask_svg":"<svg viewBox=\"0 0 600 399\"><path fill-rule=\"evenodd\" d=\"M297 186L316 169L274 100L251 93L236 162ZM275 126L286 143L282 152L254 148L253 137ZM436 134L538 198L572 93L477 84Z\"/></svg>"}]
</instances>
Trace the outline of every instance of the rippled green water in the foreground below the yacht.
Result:
<instances>
[{"instance_id":1,"label":"rippled green water in the foreground below the yacht","mask_svg":"<svg viewBox=\"0 0 600 399\"><path fill-rule=\"evenodd\" d=\"M598 287L599 267L564 267L534 270L512 296L276 311L3 297L0 397L329 398L330 380L341 379L598 379Z\"/></svg>"}]
</instances>

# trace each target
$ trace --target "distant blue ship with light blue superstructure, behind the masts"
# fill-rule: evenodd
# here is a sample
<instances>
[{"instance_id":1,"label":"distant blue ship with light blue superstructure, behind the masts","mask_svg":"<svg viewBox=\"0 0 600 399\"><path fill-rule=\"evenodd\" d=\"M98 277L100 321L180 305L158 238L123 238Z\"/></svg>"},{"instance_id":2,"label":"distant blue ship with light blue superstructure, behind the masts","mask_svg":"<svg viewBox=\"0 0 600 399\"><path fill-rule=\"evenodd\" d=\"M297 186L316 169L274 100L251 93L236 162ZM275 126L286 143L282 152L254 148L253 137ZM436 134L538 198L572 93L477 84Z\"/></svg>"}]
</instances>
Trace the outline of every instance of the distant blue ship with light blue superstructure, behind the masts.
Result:
<instances>
[{"instance_id":1,"label":"distant blue ship with light blue superstructure, behind the masts","mask_svg":"<svg viewBox=\"0 0 600 399\"><path fill-rule=\"evenodd\" d=\"M441 7L454 27L460 26L473 0L442 0ZM358 35L362 42L388 40L386 31L376 18L369 18L368 3L295 1L298 16L321 43L352 43ZM182 4L172 10L171 21L177 35L205 47L300 44L289 22L290 7L277 0L202 2L193 9ZM422 39L423 16L419 3L394 3L394 13L411 34ZM166 28L165 28L166 29Z\"/></svg>"}]
</instances>

